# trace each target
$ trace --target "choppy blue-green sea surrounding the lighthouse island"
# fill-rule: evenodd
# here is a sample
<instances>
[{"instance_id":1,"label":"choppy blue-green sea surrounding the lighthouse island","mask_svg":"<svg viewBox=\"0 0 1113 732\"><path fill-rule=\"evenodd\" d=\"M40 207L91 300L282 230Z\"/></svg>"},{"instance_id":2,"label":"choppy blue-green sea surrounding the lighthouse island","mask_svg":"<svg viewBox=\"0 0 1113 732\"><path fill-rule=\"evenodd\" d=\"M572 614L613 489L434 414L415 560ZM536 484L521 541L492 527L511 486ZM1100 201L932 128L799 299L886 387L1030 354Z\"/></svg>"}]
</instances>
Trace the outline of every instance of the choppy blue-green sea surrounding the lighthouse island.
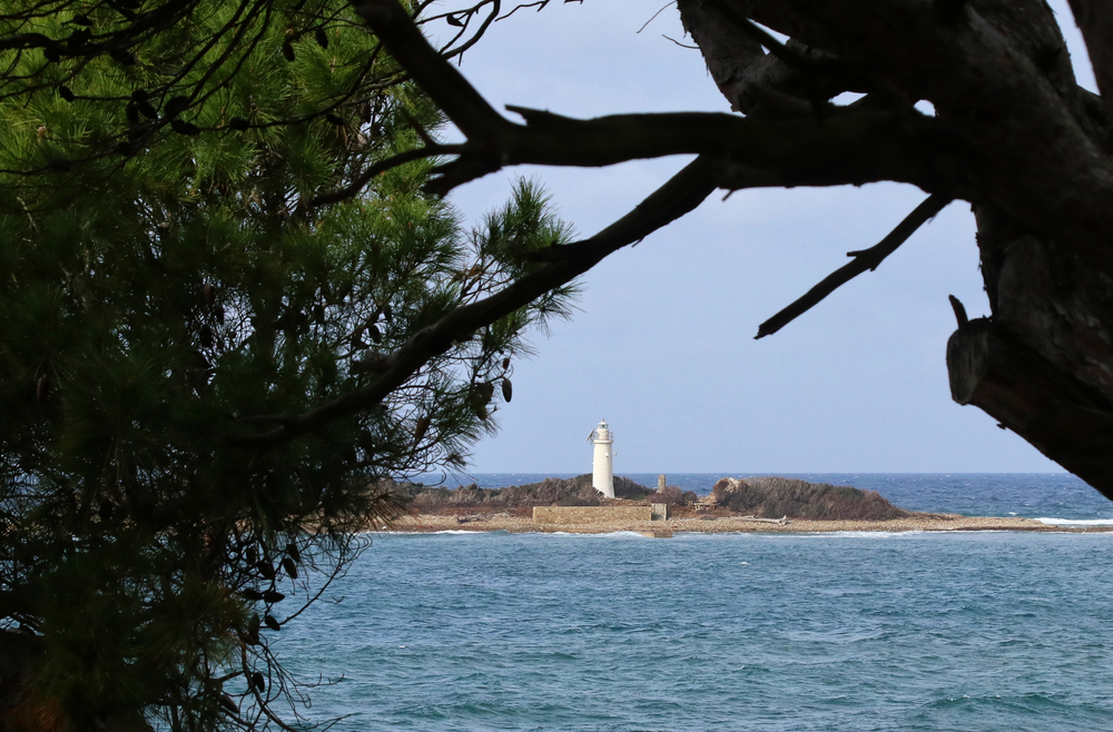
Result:
<instances>
[{"instance_id":1,"label":"choppy blue-green sea surrounding the lighthouse island","mask_svg":"<svg viewBox=\"0 0 1113 732\"><path fill-rule=\"evenodd\" d=\"M703 494L723 475L747 474L667 479ZM916 511L1113 523L1113 503L1065 474L791 477ZM1113 533L370 538L275 634L279 660L313 686L304 724L1113 730Z\"/></svg>"}]
</instances>

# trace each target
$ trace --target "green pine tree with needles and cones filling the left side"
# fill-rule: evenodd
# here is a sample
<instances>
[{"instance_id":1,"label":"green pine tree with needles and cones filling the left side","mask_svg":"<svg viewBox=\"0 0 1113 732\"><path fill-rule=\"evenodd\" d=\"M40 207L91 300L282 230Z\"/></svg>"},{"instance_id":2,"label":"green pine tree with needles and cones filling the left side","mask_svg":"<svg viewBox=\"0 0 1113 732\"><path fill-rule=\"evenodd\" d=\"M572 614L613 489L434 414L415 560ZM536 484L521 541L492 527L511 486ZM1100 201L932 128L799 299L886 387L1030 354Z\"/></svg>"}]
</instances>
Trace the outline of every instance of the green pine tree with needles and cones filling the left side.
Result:
<instances>
[{"instance_id":1,"label":"green pine tree with needles and cones filling the left side","mask_svg":"<svg viewBox=\"0 0 1113 732\"><path fill-rule=\"evenodd\" d=\"M0 16L6 719L282 725L267 637L384 478L464 464L572 288L413 345L568 228L530 184L470 233L424 192L442 118L342 2Z\"/></svg>"}]
</instances>

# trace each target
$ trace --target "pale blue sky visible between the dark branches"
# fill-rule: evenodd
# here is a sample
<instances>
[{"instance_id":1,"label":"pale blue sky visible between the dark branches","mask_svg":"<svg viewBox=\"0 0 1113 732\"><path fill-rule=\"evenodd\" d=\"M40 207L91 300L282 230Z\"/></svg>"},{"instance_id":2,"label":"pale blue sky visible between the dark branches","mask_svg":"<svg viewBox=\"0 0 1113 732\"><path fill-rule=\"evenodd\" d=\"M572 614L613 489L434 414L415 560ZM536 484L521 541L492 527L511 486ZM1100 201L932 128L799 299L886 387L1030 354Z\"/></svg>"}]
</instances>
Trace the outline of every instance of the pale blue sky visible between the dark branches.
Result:
<instances>
[{"instance_id":1,"label":"pale blue sky visible between the dark branches","mask_svg":"<svg viewBox=\"0 0 1113 732\"><path fill-rule=\"evenodd\" d=\"M1065 2L1052 2L1080 82L1094 88ZM495 23L461 71L496 108L572 117L729 112L673 6L550 2ZM669 38L666 38L669 37ZM509 112L508 112L509 115ZM452 202L473 224L528 177L588 236L624 215L688 158L602 169L519 167ZM591 469L607 419L623 473L1061 472L976 407L951 399L948 295L988 315L969 206L956 201L875 273L774 336L758 325L876 244L925 198L897 184L713 195L591 270L573 318L533 338L514 367L498 435L472 473Z\"/></svg>"}]
</instances>

